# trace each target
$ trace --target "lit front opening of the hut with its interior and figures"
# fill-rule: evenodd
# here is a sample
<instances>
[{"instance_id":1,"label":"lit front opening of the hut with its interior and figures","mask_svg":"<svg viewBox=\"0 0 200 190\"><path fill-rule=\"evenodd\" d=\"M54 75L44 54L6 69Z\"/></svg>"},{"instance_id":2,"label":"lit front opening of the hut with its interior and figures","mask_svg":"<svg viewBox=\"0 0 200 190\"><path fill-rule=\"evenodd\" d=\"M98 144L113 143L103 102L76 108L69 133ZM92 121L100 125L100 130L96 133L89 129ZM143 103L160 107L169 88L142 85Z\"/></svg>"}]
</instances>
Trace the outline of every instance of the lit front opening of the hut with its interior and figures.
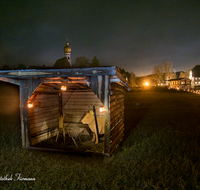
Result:
<instances>
[{"instance_id":1,"label":"lit front opening of the hut with its interior and figures","mask_svg":"<svg viewBox=\"0 0 200 190\"><path fill-rule=\"evenodd\" d=\"M99 109L103 104L84 78L44 80L28 103L33 147L104 152L105 113Z\"/></svg>"}]
</instances>

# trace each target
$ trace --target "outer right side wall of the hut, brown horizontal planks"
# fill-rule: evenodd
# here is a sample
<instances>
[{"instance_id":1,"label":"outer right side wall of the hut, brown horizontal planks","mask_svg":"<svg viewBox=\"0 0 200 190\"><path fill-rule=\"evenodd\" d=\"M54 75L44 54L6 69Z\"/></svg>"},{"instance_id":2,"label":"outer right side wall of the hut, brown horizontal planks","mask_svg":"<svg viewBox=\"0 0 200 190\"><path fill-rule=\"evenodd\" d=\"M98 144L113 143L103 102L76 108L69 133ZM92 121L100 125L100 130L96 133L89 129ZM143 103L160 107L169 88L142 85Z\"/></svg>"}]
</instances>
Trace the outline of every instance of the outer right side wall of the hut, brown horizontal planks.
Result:
<instances>
[{"instance_id":1,"label":"outer right side wall of the hut, brown horizontal planks","mask_svg":"<svg viewBox=\"0 0 200 190\"><path fill-rule=\"evenodd\" d=\"M111 83L110 95L110 155L124 136L124 92L125 89Z\"/></svg>"}]
</instances>

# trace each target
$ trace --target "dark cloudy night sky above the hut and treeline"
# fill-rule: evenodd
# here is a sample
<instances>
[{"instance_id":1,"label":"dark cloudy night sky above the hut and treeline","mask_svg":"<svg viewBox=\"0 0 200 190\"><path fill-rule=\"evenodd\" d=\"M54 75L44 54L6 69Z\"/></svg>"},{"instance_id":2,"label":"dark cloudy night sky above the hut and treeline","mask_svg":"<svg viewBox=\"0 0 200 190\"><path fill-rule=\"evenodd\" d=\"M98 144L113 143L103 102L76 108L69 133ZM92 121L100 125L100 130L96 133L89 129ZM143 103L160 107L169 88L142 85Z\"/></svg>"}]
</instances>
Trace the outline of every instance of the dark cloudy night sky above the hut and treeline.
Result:
<instances>
[{"instance_id":1,"label":"dark cloudy night sky above the hut and treeline","mask_svg":"<svg viewBox=\"0 0 200 190\"><path fill-rule=\"evenodd\" d=\"M76 57L151 74L200 64L199 0L1 0L0 67L53 66L66 41Z\"/></svg>"}]
</instances>

